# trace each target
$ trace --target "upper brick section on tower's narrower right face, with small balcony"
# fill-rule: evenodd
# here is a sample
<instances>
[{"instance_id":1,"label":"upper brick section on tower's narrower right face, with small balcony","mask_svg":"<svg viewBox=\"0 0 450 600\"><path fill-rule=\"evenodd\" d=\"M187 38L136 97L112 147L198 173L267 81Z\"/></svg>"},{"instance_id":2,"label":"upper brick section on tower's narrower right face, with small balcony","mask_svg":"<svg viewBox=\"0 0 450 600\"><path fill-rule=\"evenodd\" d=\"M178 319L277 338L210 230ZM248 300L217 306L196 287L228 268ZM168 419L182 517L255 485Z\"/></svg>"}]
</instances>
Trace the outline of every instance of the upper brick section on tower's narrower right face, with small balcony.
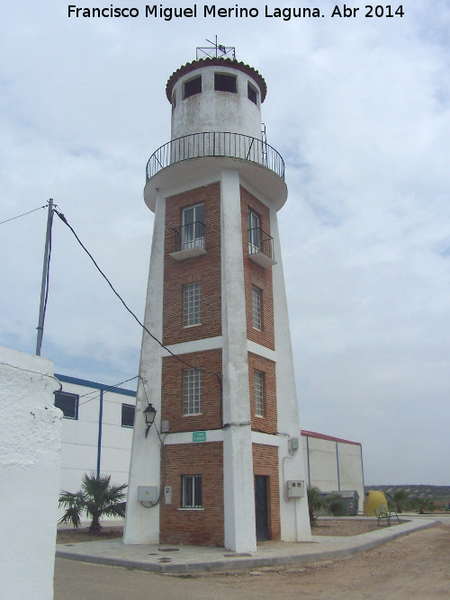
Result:
<instances>
[{"instance_id":1,"label":"upper brick section on tower's narrower right face, with small balcony","mask_svg":"<svg viewBox=\"0 0 450 600\"><path fill-rule=\"evenodd\" d=\"M259 227L270 235L270 214L265 204L255 196L240 188L240 205L242 218L242 247L244 253L244 285L246 292L247 338L275 350L274 333L274 295L272 291L272 269L265 269L248 258L248 209L259 215ZM262 328L253 327L252 319L252 285L262 291Z\"/></svg>"}]
</instances>

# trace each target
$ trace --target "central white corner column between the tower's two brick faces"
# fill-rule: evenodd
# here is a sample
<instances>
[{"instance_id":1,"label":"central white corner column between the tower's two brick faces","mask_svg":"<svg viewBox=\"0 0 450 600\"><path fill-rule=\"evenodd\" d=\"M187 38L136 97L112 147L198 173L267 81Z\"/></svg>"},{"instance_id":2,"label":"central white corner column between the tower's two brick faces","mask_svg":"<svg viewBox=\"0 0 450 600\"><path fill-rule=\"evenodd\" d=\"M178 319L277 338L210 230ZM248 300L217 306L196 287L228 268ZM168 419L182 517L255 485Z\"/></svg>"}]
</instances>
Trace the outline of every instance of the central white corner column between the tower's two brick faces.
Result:
<instances>
[{"instance_id":1,"label":"central white corner column between the tower's two brick faces","mask_svg":"<svg viewBox=\"0 0 450 600\"><path fill-rule=\"evenodd\" d=\"M225 547L257 548L239 175L220 177Z\"/></svg>"}]
</instances>

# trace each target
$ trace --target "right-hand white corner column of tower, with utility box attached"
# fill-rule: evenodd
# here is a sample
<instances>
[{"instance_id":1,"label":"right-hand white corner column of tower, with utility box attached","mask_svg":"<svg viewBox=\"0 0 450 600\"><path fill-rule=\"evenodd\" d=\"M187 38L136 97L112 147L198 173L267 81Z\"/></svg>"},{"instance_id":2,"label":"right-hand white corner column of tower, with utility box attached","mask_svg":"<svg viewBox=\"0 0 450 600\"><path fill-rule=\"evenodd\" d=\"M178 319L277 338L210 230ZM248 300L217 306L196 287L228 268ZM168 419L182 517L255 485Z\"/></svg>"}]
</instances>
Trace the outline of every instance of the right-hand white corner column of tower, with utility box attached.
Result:
<instances>
[{"instance_id":1,"label":"right-hand white corner column of tower, with utility box attached","mask_svg":"<svg viewBox=\"0 0 450 600\"><path fill-rule=\"evenodd\" d=\"M281 539L283 542L308 542L311 541L311 527L306 490L305 497L289 499L286 491L286 481L290 479L303 480L306 488L308 479L304 470L291 331L284 287L278 219L275 210L270 211L270 232L274 237L274 250L277 261L277 264L272 268L272 276L276 348L276 404L278 432L281 437L278 455ZM299 449L295 452L289 451L288 441L292 437L299 440Z\"/></svg>"}]
</instances>

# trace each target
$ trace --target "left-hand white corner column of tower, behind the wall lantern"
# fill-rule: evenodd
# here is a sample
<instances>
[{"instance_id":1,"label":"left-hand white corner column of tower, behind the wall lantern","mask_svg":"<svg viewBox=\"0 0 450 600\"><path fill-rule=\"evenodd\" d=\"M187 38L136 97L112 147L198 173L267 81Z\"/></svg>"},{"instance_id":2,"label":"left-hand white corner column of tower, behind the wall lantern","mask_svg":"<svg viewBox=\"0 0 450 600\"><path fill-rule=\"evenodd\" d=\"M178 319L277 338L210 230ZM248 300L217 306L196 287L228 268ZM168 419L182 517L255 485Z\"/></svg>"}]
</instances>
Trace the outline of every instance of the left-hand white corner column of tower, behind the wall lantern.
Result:
<instances>
[{"instance_id":1,"label":"left-hand white corner column of tower, behind the wall lantern","mask_svg":"<svg viewBox=\"0 0 450 600\"><path fill-rule=\"evenodd\" d=\"M148 291L145 308L145 326L157 339L163 335L163 283L164 283L164 236L166 200L161 193L157 197L155 224L151 245L148 272ZM157 293L154 291L157 290ZM160 430L162 348L148 336L142 334L142 349L139 365L139 384L136 394L133 442L130 458L127 512L123 542L145 544L159 542L159 504L142 505L138 500L139 486L157 486L157 495L162 495L160 482L161 447L155 425L146 437L143 411L150 402L157 409L155 422Z\"/></svg>"}]
</instances>

